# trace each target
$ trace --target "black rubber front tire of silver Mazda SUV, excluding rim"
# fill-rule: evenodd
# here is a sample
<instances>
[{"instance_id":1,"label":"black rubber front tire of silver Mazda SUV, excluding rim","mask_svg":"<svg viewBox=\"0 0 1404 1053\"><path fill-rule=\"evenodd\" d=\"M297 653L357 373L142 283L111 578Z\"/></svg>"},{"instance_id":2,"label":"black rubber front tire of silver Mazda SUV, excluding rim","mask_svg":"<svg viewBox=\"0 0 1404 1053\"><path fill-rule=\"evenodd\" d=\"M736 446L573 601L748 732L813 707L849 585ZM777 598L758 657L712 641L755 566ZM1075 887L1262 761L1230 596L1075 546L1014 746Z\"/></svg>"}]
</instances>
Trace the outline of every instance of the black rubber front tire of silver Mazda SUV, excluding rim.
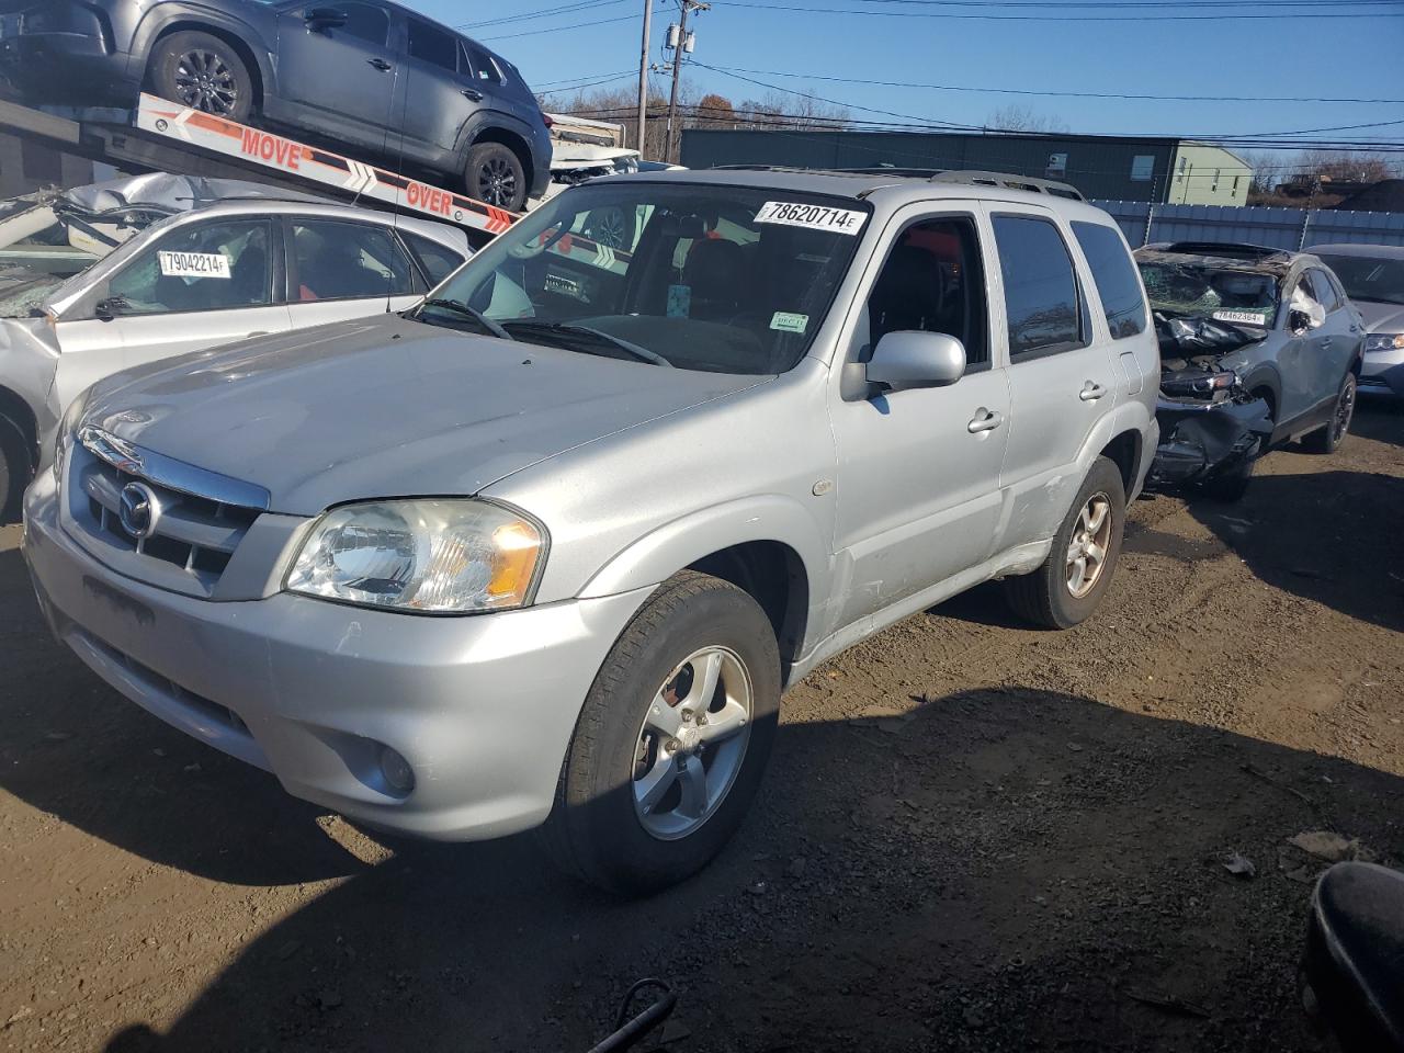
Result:
<instances>
[{"instance_id":1,"label":"black rubber front tire of silver Mazda SUV, excluding rim","mask_svg":"<svg viewBox=\"0 0 1404 1053\"><path fill-rule=\"evenodd\" d=\"M701 826L660 840L644 827L635 804L640 733L654 696L703 647L723 647L744 667L751 687L750 737L730 789ZM541 830L543 847L567 873L629 896L696 873L736 833L755 796L779 701L779 650L760 605L708 574L684 571L668 578L619 635L585 696L555 809Z\"/></svg>"}]
</instances>

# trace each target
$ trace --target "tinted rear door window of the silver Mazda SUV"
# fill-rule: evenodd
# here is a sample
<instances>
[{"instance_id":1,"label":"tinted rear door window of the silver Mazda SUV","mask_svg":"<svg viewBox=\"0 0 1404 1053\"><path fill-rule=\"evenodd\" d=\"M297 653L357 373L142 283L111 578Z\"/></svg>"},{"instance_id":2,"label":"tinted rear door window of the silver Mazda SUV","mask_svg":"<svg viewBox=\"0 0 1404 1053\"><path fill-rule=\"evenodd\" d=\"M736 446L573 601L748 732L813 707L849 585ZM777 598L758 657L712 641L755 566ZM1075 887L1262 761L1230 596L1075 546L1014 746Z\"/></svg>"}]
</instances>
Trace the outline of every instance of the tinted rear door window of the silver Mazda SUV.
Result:
<instances>
[{"instance_id":1,"label":"tinted rear door window of the silver Mazda SUV","mask_svg":"<svg viewBox=\"0 0 1404 1053\"><path fill-rule=\"evenodd\" d=\"M1009 359L1068 351L1084 345L1077 272L1052 220L997 215L994 240L1004 278Z\"/></svg>"}]
</instances>

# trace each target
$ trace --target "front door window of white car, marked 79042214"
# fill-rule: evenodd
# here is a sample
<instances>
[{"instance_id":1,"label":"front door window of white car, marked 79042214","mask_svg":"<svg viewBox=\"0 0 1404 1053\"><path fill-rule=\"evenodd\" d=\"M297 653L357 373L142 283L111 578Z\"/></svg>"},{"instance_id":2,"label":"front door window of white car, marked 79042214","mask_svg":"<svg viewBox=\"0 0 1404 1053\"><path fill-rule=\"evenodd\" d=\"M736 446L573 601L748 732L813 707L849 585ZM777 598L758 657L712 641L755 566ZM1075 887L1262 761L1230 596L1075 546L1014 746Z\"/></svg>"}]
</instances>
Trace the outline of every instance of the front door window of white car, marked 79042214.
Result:
<instances>
[{"instance_id":1,"label":"front door window of white car, marked 79042214","mask_svg":"<svg viewBox=\"0 0 1404 1053\"><path fill-rule=\"evenodd\" d=\"M108 279L121 314L232 310L272 302L267 219L195 223L157 239Z\"/></svg>"}]
</instances>

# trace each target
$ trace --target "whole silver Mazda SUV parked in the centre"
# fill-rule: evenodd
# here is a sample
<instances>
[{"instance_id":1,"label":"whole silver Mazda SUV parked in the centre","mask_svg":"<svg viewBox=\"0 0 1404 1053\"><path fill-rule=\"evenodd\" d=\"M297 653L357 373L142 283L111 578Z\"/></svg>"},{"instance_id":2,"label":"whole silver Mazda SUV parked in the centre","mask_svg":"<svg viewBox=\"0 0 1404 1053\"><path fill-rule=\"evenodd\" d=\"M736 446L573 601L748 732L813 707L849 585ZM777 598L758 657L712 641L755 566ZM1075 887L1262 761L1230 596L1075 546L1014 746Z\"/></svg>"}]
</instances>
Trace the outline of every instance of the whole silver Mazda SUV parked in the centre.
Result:
<instances>
[{"instance_id":1,"label":"whole silver Mazda SUV parked in the centre","mask_svg":"<svg viewBox=\"0 0 1404 1053\"><path fill-rule=\"evenodd\" d=\"M626 244L581 233L600 209ZM625 176L403 314L98 385L25 555L102 678L293 795L445 840L545 823L642 892L722 848L819 663L991 578L1092 614L1157 375L1085 204Z\"/></svg>"}]
</instances>

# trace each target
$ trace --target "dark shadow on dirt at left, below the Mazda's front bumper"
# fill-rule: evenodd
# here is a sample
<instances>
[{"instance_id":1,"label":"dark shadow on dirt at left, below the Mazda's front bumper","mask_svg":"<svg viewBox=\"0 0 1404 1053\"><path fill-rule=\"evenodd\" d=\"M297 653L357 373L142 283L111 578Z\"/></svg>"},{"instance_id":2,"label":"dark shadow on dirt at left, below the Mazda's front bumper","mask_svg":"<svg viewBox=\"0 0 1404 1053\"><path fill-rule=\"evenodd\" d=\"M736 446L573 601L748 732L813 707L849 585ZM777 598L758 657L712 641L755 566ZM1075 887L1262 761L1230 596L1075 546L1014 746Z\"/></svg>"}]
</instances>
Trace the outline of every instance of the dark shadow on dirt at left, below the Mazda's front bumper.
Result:
<instances>
[{"instance_id":1,"label":"dark shadow on dirt at left, below the Mazda's front bumper","mask_svg":"<svg viewBox=\"0 0 1404 1053\"><path fill-rule=\"evenodd\" d=\"M0 786L94 837L213 880L288 885L361 869L319 834L317 809L138 709L41 625L24 560L0 552Z\"/></svg>"}]
</instances>

